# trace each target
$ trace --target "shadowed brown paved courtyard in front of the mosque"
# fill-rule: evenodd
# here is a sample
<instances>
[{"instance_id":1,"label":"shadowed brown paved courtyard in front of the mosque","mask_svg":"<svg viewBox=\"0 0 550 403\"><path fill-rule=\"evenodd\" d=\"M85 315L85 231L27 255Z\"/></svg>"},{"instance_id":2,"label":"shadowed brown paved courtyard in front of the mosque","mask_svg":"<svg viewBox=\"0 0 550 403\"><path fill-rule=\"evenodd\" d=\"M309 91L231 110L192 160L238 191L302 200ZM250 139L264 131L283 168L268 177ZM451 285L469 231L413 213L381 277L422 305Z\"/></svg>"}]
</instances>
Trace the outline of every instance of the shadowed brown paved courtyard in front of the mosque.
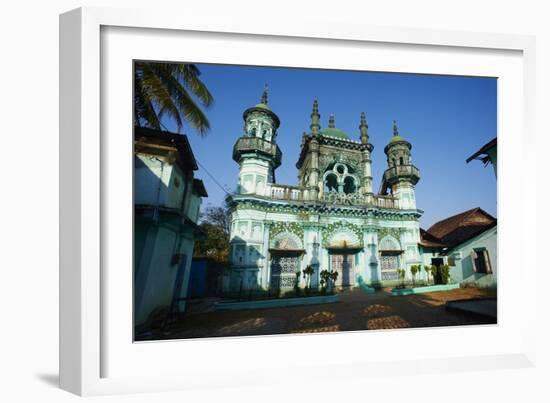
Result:
<instances>
[{"instance_id":1,"label":"shadowed brown paved courtyard in front of the mosque","mask_svg":"<svg viewBox=\"0 0 550 403\"><path fill-rule=\"evenodd\" d=\"M496 297L496 291L461 288L394 297L389 289L340 294L336 303L285 308L214 311L215 299L195 300L175 323L151 339L317 333L495 323L473 313L447 310L447 301Z\"/></svg>"}]
</instances>

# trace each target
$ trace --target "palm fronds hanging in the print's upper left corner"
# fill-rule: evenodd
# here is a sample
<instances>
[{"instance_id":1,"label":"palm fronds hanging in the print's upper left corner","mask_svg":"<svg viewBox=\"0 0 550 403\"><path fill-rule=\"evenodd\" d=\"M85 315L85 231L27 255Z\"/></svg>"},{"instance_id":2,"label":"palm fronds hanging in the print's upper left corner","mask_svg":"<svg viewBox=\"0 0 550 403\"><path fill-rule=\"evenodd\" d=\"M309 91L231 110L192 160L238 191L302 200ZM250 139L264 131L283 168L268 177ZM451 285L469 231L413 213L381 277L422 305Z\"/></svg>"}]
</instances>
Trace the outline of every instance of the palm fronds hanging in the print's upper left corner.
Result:
<instances>
[{"instance_id":1,"label":"palm fronds hanging in the print's upper left corner","mask_svg":"<svg viewBox=\"0 0 550 403\"><path fill-rule=\"evenodd\" d=\"M200 75L194 64L135 62L134 124L160 130L166 116L175 121L178 133L185 121L204 136L210 122L197 101L207 108L214 98Z\"/></svg>"}]
</instances>

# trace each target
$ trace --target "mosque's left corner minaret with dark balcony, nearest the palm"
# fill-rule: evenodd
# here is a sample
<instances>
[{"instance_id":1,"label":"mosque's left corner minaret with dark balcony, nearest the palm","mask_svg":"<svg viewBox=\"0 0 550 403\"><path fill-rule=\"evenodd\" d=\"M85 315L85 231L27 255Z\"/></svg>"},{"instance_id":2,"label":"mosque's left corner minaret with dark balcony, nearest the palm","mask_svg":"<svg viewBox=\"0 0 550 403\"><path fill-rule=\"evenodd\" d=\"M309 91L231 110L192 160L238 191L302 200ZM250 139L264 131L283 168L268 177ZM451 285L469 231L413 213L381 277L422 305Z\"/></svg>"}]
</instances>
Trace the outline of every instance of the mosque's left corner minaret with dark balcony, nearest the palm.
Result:
<instances>
[{"instance_id":1,"label":"mosque's left corner minaret with dark balcony, nearest the palm","mask_svg":"<svg viewBox=\"0 0 550 403\"><path fill-rule=\"evenodd\" d=\"M264 195L266 184L275 182L282 159L276 143L280 121L267 104L267 87L260 103L245 110L243 119L243 135L233 147L233 160L240 166L237 193Z\"/></svg>"}]
</instances>

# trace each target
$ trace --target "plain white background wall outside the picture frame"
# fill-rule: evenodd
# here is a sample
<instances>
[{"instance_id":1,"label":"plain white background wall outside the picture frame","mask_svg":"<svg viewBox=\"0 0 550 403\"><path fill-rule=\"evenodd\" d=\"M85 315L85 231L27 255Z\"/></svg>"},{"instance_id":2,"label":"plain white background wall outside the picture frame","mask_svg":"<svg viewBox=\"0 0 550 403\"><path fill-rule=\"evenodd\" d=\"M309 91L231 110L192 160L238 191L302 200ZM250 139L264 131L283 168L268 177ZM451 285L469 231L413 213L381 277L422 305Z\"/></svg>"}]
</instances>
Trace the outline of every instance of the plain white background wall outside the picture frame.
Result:
<instances>
[{"instance_id":1,"label":"plain white background wall outside the picture frame","mask_svg":"<svg viewBox=\"0 0 550 403\"><path fill-rule=\"evenodd\" d=\"M20 152L3 153L0 159L2 186L6 194L18 195L0 199L4 213L2 222L2 292L3 323L0 354L0 374L3 382L2 397L9 402L80 402L75 396L55 386L58 371L58 14L80 6L109 7L158 7L171 10L181 6L180 0L19 0L4 2L1 14L0 37L2 56L0 64L3 113L2 133L5 150L22 150L27 162L21 163ZM257 2L244 0L185 2L187 16L210 20L213 16L248 15L251 19L270 18L285 21L299 20L304 16L319 21L349 21L357 24L379 26L402 25L407 27L459 29L480 32L505 32L537 34L538 88L537 107L539 126L546 127L542 113L550 105L550 25L547 2L524 0L503 2L497 0L394 0L365 1L341 0L334 2L318 0L297 2L282 0L269 7L269 14L259 14ZM260 10L261 11L261 10ZM32 94L23 88L29 88ZM263 83L262 83L263 84ZM32 96L31 96L32 95ZM29 103L30 102L30 103ZM22 105L26 105L22 107ZM309 113L310 105L304 106ZM241 110L241 109L239 109ZM31 119L32 117L32 119ZM367 116L368 118L368 116ZM376 133L372 131L371 138ZM533 158L541 172L547 158L543 153L550 147L549 137L540 133L540 155ZM226 133L222 133L226 135ZM281 136L292 135L281 127ZM295 134L298 135L298 134ZM546 146L544 146L546 145ZM286 162L285 162L286 163ZM17 167L17 175L13 174ZM37 169L39 167L39 169ZM28 180L22 180L28 178ZM32 179L32 180L31 180ZM548 193L541 188L539 192ZM37 204L37 200L39 203ZM21 225L21 218L35 212L39 206L35 225L32 227L32 242L29 227ZM549 217L541 215L540 233L533 233L533 253L547 250L548 237L542 228L550 227ZM27 258L30 254L35 259ZM548 270L539 271L540 277L530 285L549 284ZM539 288L539 295L542 288ZM548 309L548 299L540 298L539 307ZM548 321L540 321L540 340L550 339ZM315 337L331 337L315 336ZM275 337L276 338L276 337ZM274 338L274 339L275 339ZM367 349L368 350L368 349ZM521 400L542 402L547 397L547 371L550 367L550 344L537 345L536 368L504 371L476 371L455 374L415 374L400 376L398 390L396 379L391 377L362 377L350 379L345 385L337 383L330 387L322 384L305 385L301 382L284 385L286 396L316 402L334 402L364 397L369 400L392 400L393 392L414 391L419 387L429 388L430 393L421 395L406 393L414 402L441 401L445 396L449 403L461 402L475 396L478 401ZM461 387L454 388L453 385ZM466 388L462 387L467 385ZM498 385L498 387L488 387ZM449 393L449 390L452 393ZM187 390L182 392L145 394L94 398L98 402L182 402L224 401L280 402L281 386L256 385L254 388L227 388L210 390ZM418 398L418 399L417 399ZM422 399L422 400L419 400Z\"/></svg>"}]
</instances>

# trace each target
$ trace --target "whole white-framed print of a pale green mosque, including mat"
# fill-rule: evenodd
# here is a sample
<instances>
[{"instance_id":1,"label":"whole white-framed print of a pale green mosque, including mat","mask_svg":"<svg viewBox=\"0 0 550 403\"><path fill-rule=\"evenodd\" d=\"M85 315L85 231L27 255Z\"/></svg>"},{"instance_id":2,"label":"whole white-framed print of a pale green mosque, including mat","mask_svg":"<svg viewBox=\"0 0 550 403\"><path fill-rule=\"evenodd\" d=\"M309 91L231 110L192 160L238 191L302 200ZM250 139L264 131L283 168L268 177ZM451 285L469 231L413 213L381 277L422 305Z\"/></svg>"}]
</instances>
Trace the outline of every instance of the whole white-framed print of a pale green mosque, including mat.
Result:
<instances>
[{"instance_id":1,"label":"whole white-framed print of a pale green mosque, including mat","mask_svg":"<svg viewBox=\"0 0 550 403\"><path fill-rule=\"evenodd\" d=\"M533 39L197 21L61 16L62 387L532 365Z\"/></svg>"}]
</instances>

